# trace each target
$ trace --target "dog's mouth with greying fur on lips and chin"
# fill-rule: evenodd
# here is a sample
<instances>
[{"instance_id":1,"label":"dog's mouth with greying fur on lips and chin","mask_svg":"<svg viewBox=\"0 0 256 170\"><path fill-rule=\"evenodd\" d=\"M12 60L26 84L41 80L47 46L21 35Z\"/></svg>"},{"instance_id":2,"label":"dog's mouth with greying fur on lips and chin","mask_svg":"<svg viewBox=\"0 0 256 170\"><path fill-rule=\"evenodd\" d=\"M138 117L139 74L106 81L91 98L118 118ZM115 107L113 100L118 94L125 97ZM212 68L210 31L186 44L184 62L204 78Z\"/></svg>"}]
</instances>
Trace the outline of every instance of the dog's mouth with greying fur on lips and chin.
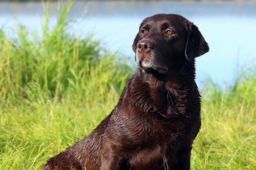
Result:
<instances>
[{"instance_id":1,"label":"dog's mouth with greying fur on lips and chin","mask_svg":"<svg viewBox=\"0 0 256 170\"><path fill-rule=\"evenodd\" d=\"M152 63L151 61L148 61L147 59L145 59L145 57L142 57L140 59L140 67L149 72L157 71L160 74L166 74L166 72L168 71L168 68L159 67L154 63Z\"/></svg>"}]
</instances>

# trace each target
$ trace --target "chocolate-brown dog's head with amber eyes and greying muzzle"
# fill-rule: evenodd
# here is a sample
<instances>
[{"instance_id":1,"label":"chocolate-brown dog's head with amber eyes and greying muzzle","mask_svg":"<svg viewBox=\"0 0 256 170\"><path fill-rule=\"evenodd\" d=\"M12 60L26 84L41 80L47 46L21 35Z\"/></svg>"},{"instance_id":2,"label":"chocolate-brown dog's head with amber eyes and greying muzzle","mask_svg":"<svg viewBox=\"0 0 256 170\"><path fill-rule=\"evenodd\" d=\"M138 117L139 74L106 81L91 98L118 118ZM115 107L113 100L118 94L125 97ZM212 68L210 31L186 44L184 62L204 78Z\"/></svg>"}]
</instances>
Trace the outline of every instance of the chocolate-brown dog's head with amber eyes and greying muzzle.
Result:
<instances>
[{"instance_id":1,"label":"chocolate-brown dog's head with amber eyes and greying muzzle","mask_svg":"<svg viewBox=\"0 0 256 170\"><path fill-rule=\"evenodd\" d=\"M146 71L167 74L209 51L192 22L177 14L156 14L140 24L132 45L137 65Z\"/></svg>"}]
</instances>

